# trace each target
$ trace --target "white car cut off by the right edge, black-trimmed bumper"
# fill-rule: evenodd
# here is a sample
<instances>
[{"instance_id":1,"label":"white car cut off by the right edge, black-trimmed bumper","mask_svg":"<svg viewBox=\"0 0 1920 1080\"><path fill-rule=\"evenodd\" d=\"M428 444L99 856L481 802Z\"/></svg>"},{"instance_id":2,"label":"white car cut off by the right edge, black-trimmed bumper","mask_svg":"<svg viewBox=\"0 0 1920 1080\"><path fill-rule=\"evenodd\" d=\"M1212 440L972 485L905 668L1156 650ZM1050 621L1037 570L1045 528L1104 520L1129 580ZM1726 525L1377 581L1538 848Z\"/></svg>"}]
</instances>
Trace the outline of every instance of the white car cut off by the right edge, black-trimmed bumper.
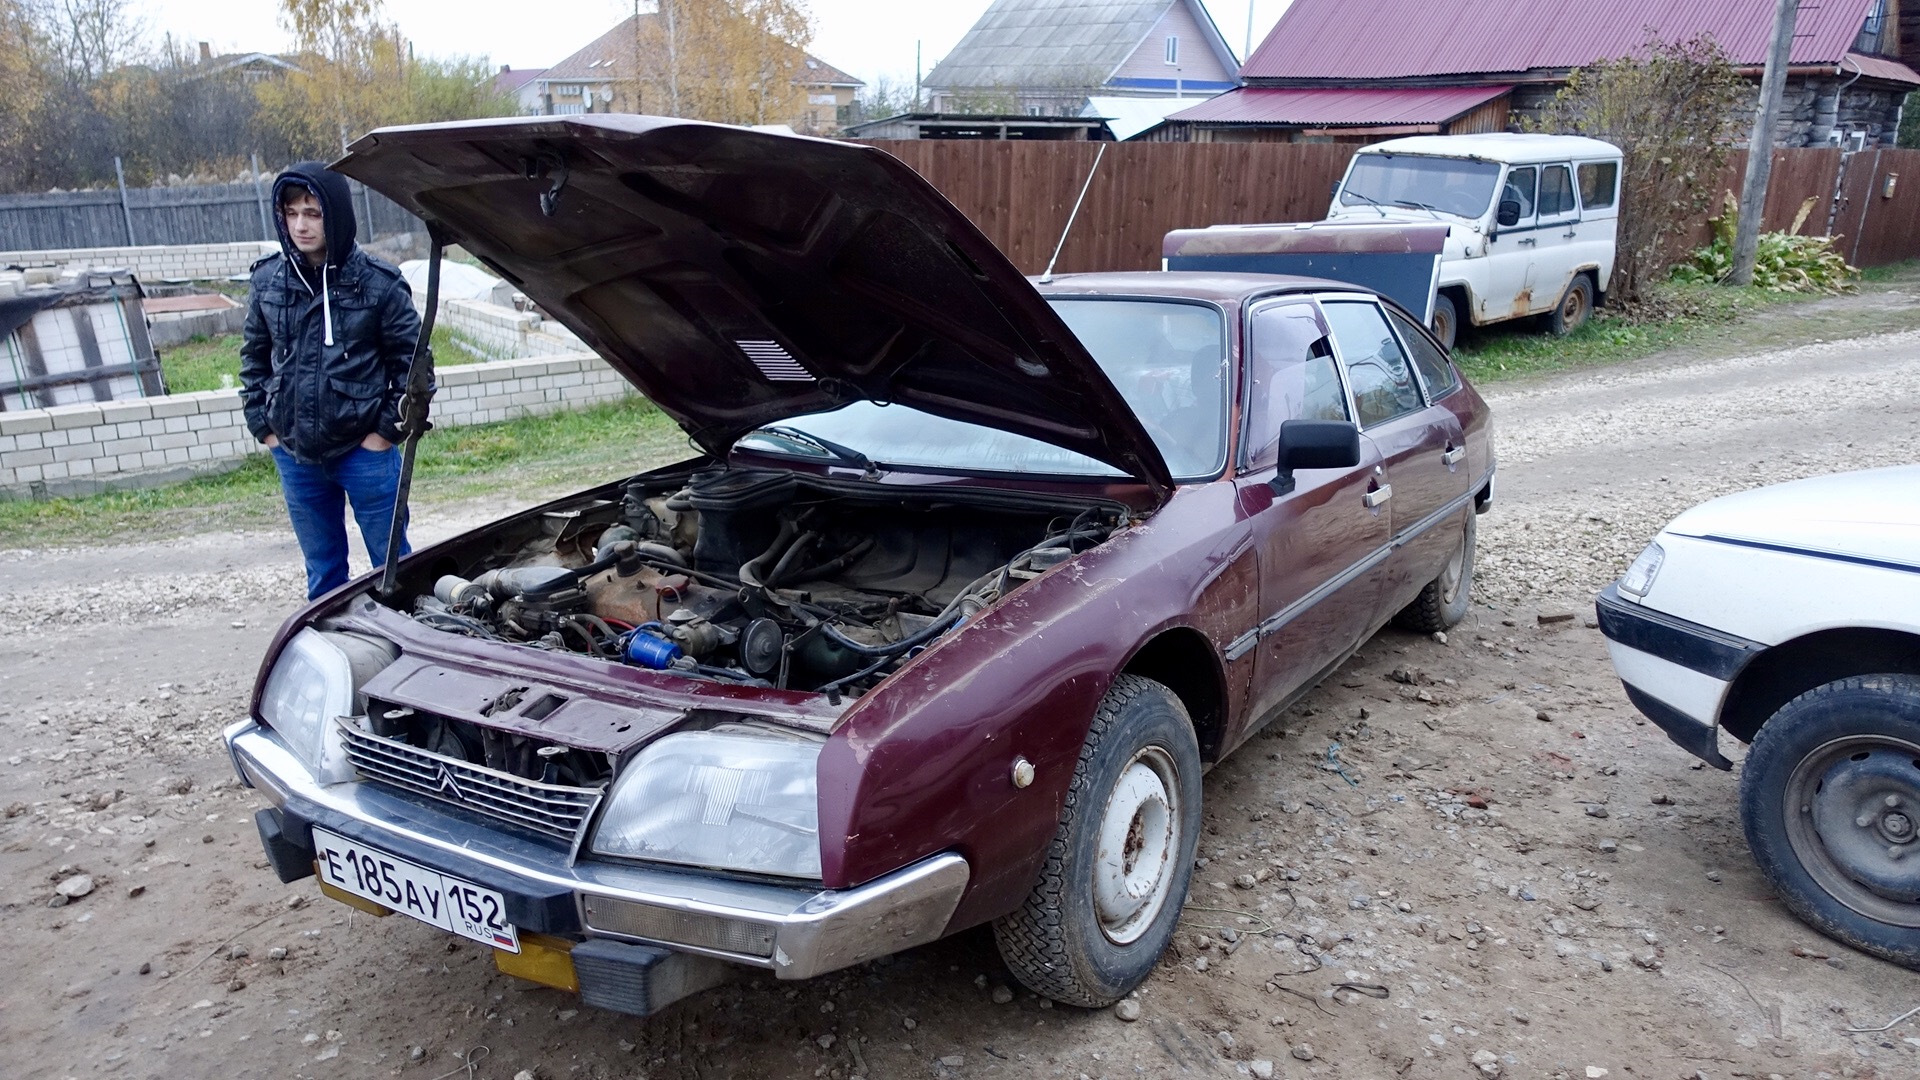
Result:
<instances>
[{"instance_id":1,"label":"white car cut off by the right edge, black-trimmed bumper","mask_svg":"<svg viewBox=\"0 0 1920 1080\"><path fill-rule=\"evenodd\" d=\"M1920 969L1920 465L1676 517L1601 592L1626 696L1740 774L1747 846L1820 932Z\"/></svg>"}]
</instances>

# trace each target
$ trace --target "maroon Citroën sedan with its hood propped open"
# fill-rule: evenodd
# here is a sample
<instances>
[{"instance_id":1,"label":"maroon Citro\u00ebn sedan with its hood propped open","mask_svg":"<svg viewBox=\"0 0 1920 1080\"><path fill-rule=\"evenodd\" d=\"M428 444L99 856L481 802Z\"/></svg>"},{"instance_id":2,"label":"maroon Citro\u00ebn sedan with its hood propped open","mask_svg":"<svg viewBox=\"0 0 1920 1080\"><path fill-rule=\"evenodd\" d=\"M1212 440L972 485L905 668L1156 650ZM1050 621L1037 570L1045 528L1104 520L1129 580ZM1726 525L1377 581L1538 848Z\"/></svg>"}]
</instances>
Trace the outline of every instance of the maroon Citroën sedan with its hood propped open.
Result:
<instances>
[{"instance_id":1,"label":"maroon Citro\u00ebn sedan with its hood propped open","mask_svg":"<svg viewBox=\"0 0 1920 1080\"><path fill-rule=\"evenodd\" d=\"M1465 613L1486 405L1369 292L1033 284L887 154L687 121L390 129L338 169L701 452L319 600L227 732L282 880L501 970L647 1015L991 922L1035 992L1114 1001L1208 765Z\"/></svg>"}]
</instances>

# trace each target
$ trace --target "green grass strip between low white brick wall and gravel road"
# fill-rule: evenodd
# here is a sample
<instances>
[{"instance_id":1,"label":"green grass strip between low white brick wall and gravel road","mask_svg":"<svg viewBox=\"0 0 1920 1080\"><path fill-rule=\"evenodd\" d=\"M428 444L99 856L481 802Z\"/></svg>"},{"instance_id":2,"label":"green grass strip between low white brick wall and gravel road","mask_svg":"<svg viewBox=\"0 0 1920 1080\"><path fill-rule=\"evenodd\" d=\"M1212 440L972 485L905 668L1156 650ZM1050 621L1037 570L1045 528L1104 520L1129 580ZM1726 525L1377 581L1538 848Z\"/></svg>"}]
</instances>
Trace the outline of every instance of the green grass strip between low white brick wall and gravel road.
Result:
<instances>
[{"instance_id":1,"label":"green grass strip between low white brick wall and gravel road","mask_svg":"<svg viewBox=\"0 0 1920 1080\"><path fill-rule=\"evenodd\" d=\"M534 498L586 488L689 457L685 436L645 398L493 425L436 429L420 440L413 503ZM121 536L156 540L209 528L284 527L267 455L238 469L140 492L0 502L0 546L44 548Z\"/></svg>"}]
</instances>

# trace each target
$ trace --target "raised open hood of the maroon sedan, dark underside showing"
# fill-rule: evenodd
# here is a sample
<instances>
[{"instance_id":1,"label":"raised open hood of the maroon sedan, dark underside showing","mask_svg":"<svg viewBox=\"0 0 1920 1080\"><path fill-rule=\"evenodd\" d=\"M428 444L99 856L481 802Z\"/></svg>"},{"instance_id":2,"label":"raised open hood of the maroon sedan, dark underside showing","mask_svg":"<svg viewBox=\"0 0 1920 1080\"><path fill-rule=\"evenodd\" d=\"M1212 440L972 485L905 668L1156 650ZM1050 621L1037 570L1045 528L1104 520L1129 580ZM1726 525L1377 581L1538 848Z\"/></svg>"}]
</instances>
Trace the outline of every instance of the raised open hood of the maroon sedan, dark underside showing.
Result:
<instances>
[{"instance_id":1,"label":"raised open hood of the maroon sedan, dark underside showing","mask_svg":"<svg viewBox=\"0 0 1920 1080\"><path fill-rule=\"evenodd\" d=\"M708 454L895 402L1171 488L1033 284L881 150L591 113L378 129L334 167L513 281Z\"/></svg>"}]
</instances>

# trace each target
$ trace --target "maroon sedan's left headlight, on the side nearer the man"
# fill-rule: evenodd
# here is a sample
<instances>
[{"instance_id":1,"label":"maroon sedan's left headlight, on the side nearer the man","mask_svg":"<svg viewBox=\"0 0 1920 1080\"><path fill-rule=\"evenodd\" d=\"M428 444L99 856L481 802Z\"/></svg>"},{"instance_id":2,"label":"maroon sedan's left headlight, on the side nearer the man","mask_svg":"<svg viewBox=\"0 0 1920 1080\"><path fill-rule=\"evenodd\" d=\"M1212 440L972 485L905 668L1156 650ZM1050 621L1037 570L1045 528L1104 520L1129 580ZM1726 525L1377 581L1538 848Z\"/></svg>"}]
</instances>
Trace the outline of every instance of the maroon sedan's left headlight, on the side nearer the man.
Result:
<instances>
[{"instance_id":1,"label":"maroon sedan's left headlight, on the side nearer the man","mask_svg":"<svg viewBox=\"0 0 1920 1080\"><path fill-rule=\"evenodd\" d=\"M361 682L394 663L394 646L372 638L301 630L286 642L267 676L259 719L319 771L328 744L338 742L330 738L334 717L363 713Z\"/></svg>"}]
</instances>

